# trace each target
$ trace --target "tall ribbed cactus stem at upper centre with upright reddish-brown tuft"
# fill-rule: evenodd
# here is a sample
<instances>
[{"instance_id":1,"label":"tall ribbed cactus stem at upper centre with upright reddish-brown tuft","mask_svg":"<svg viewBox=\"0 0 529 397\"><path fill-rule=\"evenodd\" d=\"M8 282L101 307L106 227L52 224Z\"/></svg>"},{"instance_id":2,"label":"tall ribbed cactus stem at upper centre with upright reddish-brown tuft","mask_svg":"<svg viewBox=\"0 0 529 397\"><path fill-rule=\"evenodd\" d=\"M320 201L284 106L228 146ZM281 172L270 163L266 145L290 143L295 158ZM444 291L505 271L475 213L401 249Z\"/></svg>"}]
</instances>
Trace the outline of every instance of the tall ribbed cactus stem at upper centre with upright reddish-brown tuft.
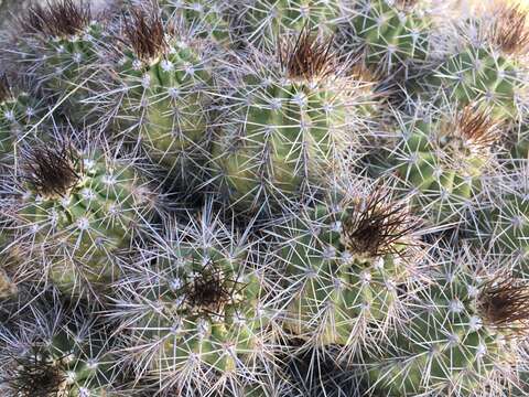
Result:
<instances>
[{"instance_id":1,"label":"tall ribbed cactus stem at upper centre with upright reddish-brown tuft","mask_svg":"<svg viewBox=\"0 0 529 397\"><path fill-rule=\"evenodd\" d=\"M357 88L366 84L344 76L332 39L304 29L280 47L235 66L240 82L214 138L214 183L241 212L270 213L314 194L355 140L356 111L365 110L355 95L365 95Z\"/></svg>"}]
</instances>

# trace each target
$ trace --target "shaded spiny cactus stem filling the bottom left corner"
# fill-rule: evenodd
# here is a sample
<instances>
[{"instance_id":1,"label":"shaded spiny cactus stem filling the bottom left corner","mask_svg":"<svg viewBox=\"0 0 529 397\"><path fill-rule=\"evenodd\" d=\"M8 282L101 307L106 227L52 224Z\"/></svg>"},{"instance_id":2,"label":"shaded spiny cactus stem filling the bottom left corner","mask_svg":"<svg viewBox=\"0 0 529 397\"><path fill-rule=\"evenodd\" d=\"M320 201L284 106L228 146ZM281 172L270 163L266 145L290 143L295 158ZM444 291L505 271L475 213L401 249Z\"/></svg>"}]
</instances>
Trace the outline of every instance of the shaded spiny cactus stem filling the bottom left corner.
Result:
<instances>
[{"instance_id":1,"label":"shaded spiny cactus stem filling the bottom left corner","mask_svg":"<svg viewBox=\"0 0 529 397\"><path fill-rule=\"evenodd\" d=\"M2 394L111 395L117 373L108 354L111 340L107 326L69 312L56 298L45 303L44 297L36 299L39 304L0 329Z\"/></svg>"}]
</instances>

